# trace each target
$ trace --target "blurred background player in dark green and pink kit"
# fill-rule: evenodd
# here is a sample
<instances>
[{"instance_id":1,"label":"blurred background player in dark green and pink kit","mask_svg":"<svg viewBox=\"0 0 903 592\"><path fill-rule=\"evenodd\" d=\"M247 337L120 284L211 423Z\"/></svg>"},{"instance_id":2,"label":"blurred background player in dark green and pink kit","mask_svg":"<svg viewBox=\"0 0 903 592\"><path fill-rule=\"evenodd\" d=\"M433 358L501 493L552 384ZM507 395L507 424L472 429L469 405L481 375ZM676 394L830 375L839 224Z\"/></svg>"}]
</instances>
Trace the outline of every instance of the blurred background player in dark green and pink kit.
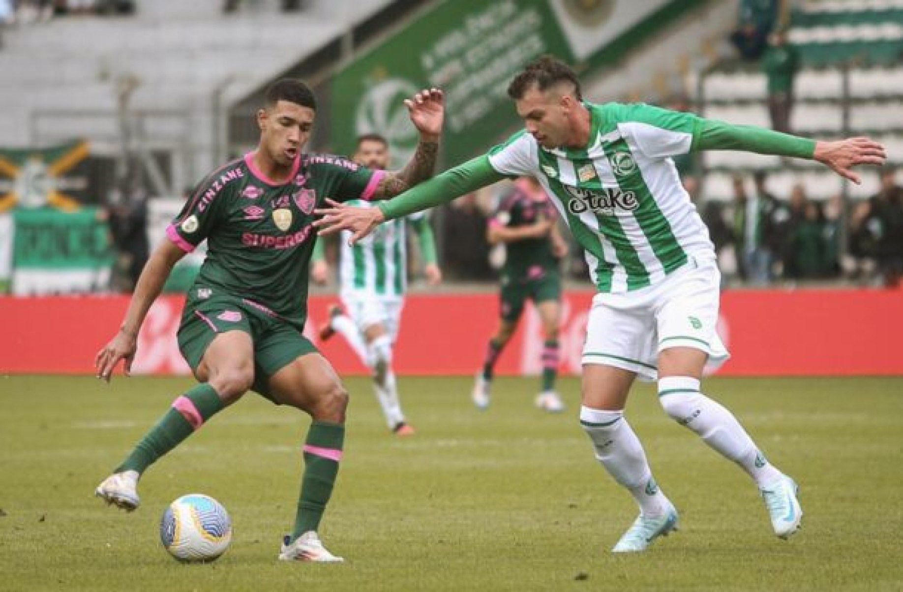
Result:
<instances>
[{"instance_id":1,"label":"blurred background player in dark green and pink kit","mask_svg":"<svg viewBox=\"0 0 903 592\"><path fill-rule=\"evenodd\" d=\"M533 177L521 177L514 191L498 203L489 221L489 244L505 244L505 264L499 282L500 319L489 339L486 360L477 374L471 398L479 409L489 407L492 372L499 354L517 329L526 299L533 300L543 325L543 383L535 399L536 407L562 411L564 405L555 392L558 371L558 325L561 323L561 277L558 261L567 254L556 224L557 214L542 186Z\"/></svg>"}]
</instances>

